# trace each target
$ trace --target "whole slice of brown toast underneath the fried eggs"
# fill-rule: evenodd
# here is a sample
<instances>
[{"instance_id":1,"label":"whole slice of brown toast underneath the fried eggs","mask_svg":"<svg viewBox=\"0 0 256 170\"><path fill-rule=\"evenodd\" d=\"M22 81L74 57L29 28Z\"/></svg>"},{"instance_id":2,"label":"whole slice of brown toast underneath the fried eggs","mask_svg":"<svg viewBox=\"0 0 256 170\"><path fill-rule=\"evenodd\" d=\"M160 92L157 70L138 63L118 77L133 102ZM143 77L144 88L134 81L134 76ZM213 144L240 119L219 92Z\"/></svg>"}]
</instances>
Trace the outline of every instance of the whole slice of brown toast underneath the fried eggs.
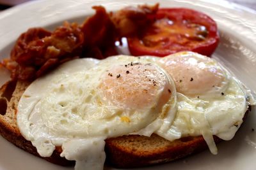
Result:
<instances>
[{"instance_id":1,"label":"whole slice of brown toast underneath the fried eggs","mask_svg":"<svg viewBox=\"0 0 256 170\"><path fill-rule=\"evenodd\" d=\"M36 148L22 137L17 127L17 105L29 81L8 81L0 89L0 134L13 145L40 157ZM218 143L220 138L214 136ZM107 163L118 168L142 167L180 159L207 149L202 136L186 137L168 141L156 134L151 137L129 135L106 139ZM51 157L41 157L61 166L74 165L74 161L60 157L61 148L56 148Z\"/></svg>"}]
</instances>

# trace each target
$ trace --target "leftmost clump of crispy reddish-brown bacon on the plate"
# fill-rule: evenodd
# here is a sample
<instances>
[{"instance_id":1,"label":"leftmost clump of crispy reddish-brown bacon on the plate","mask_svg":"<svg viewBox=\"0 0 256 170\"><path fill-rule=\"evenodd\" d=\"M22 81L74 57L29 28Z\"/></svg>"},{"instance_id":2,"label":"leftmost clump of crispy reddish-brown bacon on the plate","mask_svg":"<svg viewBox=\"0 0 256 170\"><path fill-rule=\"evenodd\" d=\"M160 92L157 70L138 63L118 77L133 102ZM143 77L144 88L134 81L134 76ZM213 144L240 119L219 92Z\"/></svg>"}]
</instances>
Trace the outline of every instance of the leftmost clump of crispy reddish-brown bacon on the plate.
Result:
<instances>
[{"instance_id":1,"label":"leftmost clump of crispy reddish-brown bacon on the plate","mask_svg":"<svg viewBox=\"0 0 256 170\"><path fill-rule=\"evenodd\" d=\"M12 78L33 79L58 66L60 60L80 55L83 42L83 32L77 24L65 22L53 32L29 29L17 39L11 60L3 64L12 71ZM10 65L16 66L13 69Z\"/></svg>"}]
</instances>

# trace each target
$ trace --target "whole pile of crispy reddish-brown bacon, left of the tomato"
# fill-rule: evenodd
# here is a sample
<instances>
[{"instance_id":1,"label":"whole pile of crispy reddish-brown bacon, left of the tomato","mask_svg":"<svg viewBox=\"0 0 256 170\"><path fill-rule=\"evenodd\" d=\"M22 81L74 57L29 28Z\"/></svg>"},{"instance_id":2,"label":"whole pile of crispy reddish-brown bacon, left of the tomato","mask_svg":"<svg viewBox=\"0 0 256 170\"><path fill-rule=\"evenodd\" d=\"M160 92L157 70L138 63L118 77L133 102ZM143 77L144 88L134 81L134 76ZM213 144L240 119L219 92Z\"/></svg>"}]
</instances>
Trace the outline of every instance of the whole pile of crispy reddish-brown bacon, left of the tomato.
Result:
<instances>
[{"instance_id":1,"label":"whole pile of crispy reddish-brown bacon, left of the tomato","mask_svg":"<svg viewBox=\"0 0 256 170\"><path fill-rule=\"evenodd\" d=\"M53 32L28 29L17 39L10 59L4 59L1 65L12 72L13 79L29 80L70 59L116 55L115 41L150 24L158 4L127 7L115 13L107 13L102 6L93 9L95 15L82 25L65 22Z\"/></svg>"}]
</instances>

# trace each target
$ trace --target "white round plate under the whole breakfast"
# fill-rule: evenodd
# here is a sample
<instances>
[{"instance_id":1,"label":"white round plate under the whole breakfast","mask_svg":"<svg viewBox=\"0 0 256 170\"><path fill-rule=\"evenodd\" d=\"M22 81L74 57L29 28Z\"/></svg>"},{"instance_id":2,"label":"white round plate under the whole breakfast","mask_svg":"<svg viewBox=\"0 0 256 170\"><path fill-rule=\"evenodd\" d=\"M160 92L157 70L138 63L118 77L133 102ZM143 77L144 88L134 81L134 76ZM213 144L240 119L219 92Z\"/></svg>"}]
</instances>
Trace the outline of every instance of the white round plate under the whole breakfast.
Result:
<instances>
[{"instance_id":1,"label":"white round plate under the whole breakfast","mask_svg":"<svg viewBox=\"0 0 256 170\"><path fill-rule=\"evenodd\" d=\"M64 20L83 22L92 15L93 5L103 5L107 10L118 10L123 6L138 3L156 3L157 0L60 0L34 1L15 6L0 12L0 59L8 57L15 39L29 27L46 27L54 29ZM210 15L218 23L221 41L213 57L223 62L250 89L256 90L256 12L237 4L226 1L206 0L162 1L161 7L187 7ZM0 70L0 85L6 80ZM218 145L218 155L212 155L208 150L187 157L144 169L255 169L256 167L256 116L255 110L250 113L246 122L232 141ZM73 169L61 167L39 159L0 137L0 169ZM105 169L113 169L106 167Z\"/></svg>"}]
</instances>

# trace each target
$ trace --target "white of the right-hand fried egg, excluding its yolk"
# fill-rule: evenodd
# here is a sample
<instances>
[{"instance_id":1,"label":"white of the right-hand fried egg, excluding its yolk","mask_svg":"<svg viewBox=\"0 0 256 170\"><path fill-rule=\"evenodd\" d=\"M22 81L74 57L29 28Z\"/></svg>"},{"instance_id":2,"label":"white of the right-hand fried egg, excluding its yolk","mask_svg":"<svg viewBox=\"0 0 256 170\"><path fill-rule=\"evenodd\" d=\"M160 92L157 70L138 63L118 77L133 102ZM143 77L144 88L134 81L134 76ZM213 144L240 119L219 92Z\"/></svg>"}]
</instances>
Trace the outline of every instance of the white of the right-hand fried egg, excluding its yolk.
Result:
<instances>
[{"instance_id":1,"label":"white of the right-hand fried egg, excluding its yolk","mask_svg":"<svg viewBox=\"0 0 256 170\"><path fill-rule=\"evenodd\" d=\"M212 136L218 136L223 140L232 139L243 123L244 113L248 110L248 100L255 100L243 83L216 60L209 57L193 52L179 52L161 59L152 57L145 57L145 59L163 66L163 61L170 62L168 59L173 59L173 57L194 57L195 63L200 63L210 69L218 69L219 73L222 72L222 76L225 77L220 83L220 87L212 87L205 94L191 92L196 95L189 96L178 91L178 109L172 125L167 130L156 133L170 141L186 136L202 135L211 152L216 154L218 150ZM202 85L204 86L204 84Z\"/></svg>"}]
</instances>

